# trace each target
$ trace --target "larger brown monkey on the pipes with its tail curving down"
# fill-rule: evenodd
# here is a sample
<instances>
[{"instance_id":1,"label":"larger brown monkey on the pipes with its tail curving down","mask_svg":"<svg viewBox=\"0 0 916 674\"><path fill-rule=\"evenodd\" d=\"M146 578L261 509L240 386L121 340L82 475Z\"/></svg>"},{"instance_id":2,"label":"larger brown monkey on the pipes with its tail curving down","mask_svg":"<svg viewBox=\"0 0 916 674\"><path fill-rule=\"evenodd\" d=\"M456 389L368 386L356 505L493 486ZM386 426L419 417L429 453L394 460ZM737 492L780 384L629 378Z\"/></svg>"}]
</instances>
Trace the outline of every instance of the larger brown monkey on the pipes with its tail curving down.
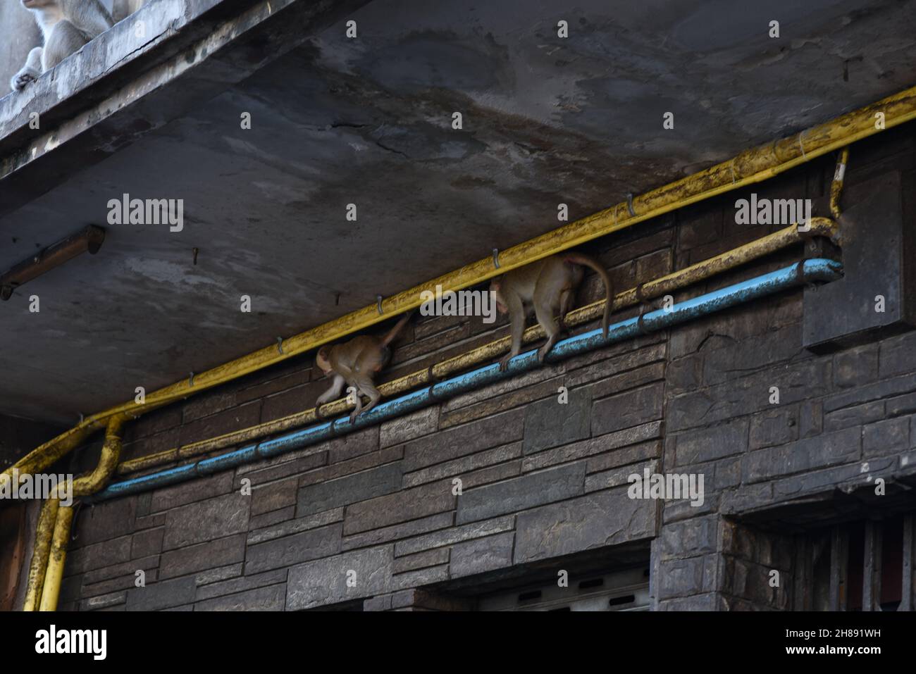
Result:
<instances>
[{"instance_id":1,"label":"larger brown monkey on the pipes with its tail curving down","mask_svg":"<svg viewBox=\"0 0 916 674\"><path fill-rule=\"evenodd\" d=\"M607 337L607 324L610 320L611 305L614 304L614 286L607 276L605 267L593 257L582 253L560 253L544 257L530 265L520 266L501 277L490 281L490 290L496 294L496 309L509 314L512 325L512 348L502 360L499 369L506 371L509 360L521 351L522 333L525 332L526 306L534 306L535 315L540 327L547 332L547 342L538 350L538 360L543 363L544 356L560 339L561 329L566 313L573 308L573 297L576 288L582 283L584 270L588 266L605 282L607 300L605 316L601 328ZM556 317L560 311L560 321Z\"/></svg>"}]
</instances>

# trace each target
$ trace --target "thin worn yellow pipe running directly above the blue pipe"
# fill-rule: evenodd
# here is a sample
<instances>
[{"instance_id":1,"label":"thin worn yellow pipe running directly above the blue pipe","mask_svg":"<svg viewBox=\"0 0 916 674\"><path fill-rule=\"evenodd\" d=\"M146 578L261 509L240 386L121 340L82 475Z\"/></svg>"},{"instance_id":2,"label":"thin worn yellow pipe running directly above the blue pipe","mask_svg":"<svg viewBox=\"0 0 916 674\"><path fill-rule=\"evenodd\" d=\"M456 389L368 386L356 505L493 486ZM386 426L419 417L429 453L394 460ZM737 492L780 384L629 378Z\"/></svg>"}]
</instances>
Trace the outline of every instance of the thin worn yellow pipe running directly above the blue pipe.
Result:
<instances>
[{"instance_id":1,"label":"thin worn yellow pipe running directly above the blue pipe","mask_svg":"<svg viewBox=\"0 0 916 674\"><path fill-rule=\"evenodd\" d=\"M672 272L664 277L657 278L642 284L640 288L630 288L616 295L614 306L616 310L631 307L640 303L642 300L658 298L661 295L671 291L686 288L703 279L713 277L729 269L774 253L789 245L800 243L806 236L826 236L834 239L837 234L837 226L828 218L815 217L811 219L810 230L800 233L797 225L791 225L779 232L774 232L763 236L756 241L746 245L741 245L734 250L726 251L721 255L715 255L708 260L703 260L695 265L684 267L678 271ZM588 321L594 321L599 318L605 306L605 300L599 299L581 309L573 310L566 315L564 321L566 325L580 325ZM525 331L523 341L533 342L543 339L544 332L540 325L531 326ZM378 386L378 390L383 397L392 397L409 391L417 386L428 384L430 381L430 372L433 377L442 378L455 372L468 369L476 364L483 363L494 358L496 355L506 351L509 345L509 337L498 339L494 342L488 342L482 346L461 355L454 356L442 363L435 364L432 368L424 368L409 375L402 376L393 381ZM322 406L322 417L330 417L334 414L344 412L349 408L344 398L335 400L327 405ZM296 414L267 421L267 423L251 426L246 429L235 430L231 433L201 440L181 447L176 447L166 451L159 451L155 454L139 457L131 461L121 463L117 467L118 474L136 473L147 469L155 468L166 463L177 462L180 459L198 456L208 451L223 449L233 445L242 444L257 438L263 438L273 435L283 430L296 428L311 423L318 419L315 408L306 409Z\"/></svg>"}]
</instances>

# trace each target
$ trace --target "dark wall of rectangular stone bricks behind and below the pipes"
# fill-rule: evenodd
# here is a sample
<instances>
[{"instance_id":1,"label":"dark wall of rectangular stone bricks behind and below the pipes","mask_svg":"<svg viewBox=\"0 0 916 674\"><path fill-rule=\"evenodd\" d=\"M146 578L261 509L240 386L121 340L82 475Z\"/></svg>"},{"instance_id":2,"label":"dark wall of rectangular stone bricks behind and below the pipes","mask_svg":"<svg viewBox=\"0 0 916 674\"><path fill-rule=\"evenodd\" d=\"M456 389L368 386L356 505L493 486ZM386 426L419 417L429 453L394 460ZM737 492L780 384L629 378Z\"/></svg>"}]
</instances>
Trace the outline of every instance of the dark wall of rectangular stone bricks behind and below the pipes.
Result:
<instances>
[{"instance_id":1,"label":"dark wall of rectangular stone bricks behind and below the pipes","mask_svg":"<svg viewBox=\"0 0 916 674\"><path fill-rule=\"evenodd\" d=\"M912 162L911 131L889 131L853 148L847 181ZM822 158L755 191L811 198L826 214L832 175ZM736 225L739 196L585 249L630 288L780 228ZM589 277L579 304L602 292ZM893 489L916 475L916 332L813 354L801 321L802 290L783 293L234 472L83 507L62 608L447 610L558 569L636 562L651 567L657 609L787 608L804 514L828 521L840 495L861 503L876 476ZM505 321L415 320L384 378L506 332ZM130 425L125 458L310 408L326 386L318 375L297 359L151 413ZM702 473L703 506L630 499L627 475L646 467Z\"/></svg>"}]
</instances>

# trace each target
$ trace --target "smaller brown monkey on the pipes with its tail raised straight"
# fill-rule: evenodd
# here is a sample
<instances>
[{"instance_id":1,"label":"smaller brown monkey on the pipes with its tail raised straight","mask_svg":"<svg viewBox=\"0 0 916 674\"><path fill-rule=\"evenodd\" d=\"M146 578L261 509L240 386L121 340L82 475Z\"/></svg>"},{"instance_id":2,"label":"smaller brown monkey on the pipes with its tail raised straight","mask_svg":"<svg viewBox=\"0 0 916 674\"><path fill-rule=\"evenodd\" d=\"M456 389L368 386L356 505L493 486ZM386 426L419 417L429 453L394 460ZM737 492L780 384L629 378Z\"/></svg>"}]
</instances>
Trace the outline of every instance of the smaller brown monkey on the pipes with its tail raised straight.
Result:
<instances>
[{"instance_id":1,"label":"smaller brown monkey on the pipes with its tail raised straight","mask_svg":"<svg viewBox=\"0 0 916 674\"><path fill-rule=\"evenodd\" d=\"M346 384L356 389L356 408L350 415L351 423L360 414L373 408L382 397L373 383L373 378L387 364L391 357L388 344L394 341L409 318L410 312L404 314L404 317L384 337L360 335L343 344L322 346L318 350L318 355L315 356L315 364L322 368L325 375L333 373L333 382L331 387L315 402L315 407L318 408L329 400L341 397L344 384ZM369 397L369 403L365 407L359 397L360 393Z\"/></svg>"}]
</instances>

